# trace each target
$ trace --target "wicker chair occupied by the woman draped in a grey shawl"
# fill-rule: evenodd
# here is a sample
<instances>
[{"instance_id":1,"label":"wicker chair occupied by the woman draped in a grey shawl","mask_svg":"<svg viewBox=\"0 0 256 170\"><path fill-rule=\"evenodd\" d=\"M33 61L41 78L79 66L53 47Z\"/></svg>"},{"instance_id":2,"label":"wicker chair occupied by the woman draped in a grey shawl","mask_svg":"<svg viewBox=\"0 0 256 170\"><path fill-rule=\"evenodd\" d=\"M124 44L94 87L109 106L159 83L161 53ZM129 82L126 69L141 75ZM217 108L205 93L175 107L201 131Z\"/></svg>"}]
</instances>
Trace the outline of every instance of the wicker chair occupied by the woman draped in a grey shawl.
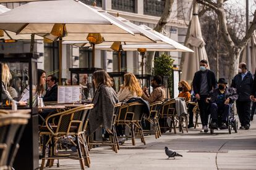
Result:
<instances>
[{"instance_id":1,"label":"wicker chair occupied by the woman draped in a grey shawl","mask_svg":"<svg viewBox=\"0 0 256 170\"><path fill-rule=\"evenodd\" d=\"M93 140L93 134L92 134L88 139L89 140L88 145L90 149L92 149L93 145L109 145L112 147L112 150L116 153L117 153L117 150L120 149L118 139L117 139L115 124L116 124L116 118L121 105L122 103L116 103L116 105L114 105L114 114L113 114L111 129L106 129L106 131L109 134L109 141L100 142L100 141Z\"/></svg>"}]
</instances>

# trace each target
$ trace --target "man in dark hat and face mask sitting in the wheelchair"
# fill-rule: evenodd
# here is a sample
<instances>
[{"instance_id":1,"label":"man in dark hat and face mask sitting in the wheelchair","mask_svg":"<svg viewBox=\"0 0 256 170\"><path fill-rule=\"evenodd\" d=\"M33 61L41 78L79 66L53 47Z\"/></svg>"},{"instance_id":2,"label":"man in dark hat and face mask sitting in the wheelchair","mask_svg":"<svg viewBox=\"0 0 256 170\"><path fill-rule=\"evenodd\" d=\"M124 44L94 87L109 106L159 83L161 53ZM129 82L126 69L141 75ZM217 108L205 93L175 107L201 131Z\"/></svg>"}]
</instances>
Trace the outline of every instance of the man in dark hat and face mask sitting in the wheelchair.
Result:
<instances>
[{"instance_id":1,"label":"man in dark hat and face mask sitting in the wheelchair","mask_svg":"<svg viewBox=\"0 0 256 170\"><path fill-rule=\"evenodd\" d=\"M228 87L227 84L226 79L220 78L218 80L218 88L210 91L209 97L206 99L206 102L210 103L210 125L212 129L218 129L218 127L220 129L228 128L228 115L231 105L237 100L238 95L236 94L236 89ZM218 119L218 117L221 119Z\"/></svg>"}]
</instances>

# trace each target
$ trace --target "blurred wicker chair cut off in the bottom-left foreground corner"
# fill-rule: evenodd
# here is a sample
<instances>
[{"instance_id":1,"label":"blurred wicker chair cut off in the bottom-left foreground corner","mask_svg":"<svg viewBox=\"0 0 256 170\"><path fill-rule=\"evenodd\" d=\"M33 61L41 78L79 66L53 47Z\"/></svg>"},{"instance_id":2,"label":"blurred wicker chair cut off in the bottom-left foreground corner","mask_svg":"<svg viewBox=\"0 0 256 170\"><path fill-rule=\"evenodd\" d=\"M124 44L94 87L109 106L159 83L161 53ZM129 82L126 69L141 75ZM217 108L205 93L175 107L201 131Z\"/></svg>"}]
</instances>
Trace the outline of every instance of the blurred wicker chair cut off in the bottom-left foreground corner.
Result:
<instances>
[{"instance_id":1,"label":"blurred wicker chair cut off in the bottom-left foreground corner","mask_svg":"<svg viewBox=\"0 0 256 170\"><path fill-rule=\"evenodd\" d=\"M12 169L29 114L0 113L0 169Z\"/></svg>"}]
</instances>

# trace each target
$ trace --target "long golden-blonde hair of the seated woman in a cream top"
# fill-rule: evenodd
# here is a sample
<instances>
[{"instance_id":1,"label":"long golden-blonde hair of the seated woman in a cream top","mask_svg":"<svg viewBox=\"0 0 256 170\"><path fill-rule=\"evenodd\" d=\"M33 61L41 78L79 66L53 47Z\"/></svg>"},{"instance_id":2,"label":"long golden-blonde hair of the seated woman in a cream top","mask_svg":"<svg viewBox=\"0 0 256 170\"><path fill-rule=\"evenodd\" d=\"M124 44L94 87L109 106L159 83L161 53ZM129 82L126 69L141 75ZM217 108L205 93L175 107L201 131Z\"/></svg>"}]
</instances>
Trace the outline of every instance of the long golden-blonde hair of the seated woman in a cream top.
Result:
<instances>
[{"instance_id":1,"label":"long golden-blonde hair of the seated woman in a cream top","mask_svg":"<svg viewBox=\"0 0 256 170\"><path fill-rule=\"evenodd\" d=\"M130 92L136 93L139 97L142 96L142 88L140 87L138 79L132 73L127 73L124 75L124 86L123 88L128 88Z\"/></svg>"}]
</instances>

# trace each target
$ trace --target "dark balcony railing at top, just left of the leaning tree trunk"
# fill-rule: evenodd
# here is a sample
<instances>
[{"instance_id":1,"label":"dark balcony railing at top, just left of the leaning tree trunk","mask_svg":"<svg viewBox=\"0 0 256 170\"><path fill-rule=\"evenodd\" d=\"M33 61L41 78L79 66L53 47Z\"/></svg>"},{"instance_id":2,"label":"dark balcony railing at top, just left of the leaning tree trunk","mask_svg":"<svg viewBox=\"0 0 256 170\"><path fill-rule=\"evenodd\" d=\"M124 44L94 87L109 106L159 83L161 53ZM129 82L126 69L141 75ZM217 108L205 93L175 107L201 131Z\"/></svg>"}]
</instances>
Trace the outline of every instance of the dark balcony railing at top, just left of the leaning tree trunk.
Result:
<instances>
[{"instance_id":1,"label":"dark balcony railing at top, just left of the leaning tree trunk","mask_svg":"<svg viewBox=\"0 0 256 170\"><path fill-rule=\"evenodd\" d=\"M144 0L144 15L161 17L164 4L164 0Z\"/></svg>"}]
</instances>

